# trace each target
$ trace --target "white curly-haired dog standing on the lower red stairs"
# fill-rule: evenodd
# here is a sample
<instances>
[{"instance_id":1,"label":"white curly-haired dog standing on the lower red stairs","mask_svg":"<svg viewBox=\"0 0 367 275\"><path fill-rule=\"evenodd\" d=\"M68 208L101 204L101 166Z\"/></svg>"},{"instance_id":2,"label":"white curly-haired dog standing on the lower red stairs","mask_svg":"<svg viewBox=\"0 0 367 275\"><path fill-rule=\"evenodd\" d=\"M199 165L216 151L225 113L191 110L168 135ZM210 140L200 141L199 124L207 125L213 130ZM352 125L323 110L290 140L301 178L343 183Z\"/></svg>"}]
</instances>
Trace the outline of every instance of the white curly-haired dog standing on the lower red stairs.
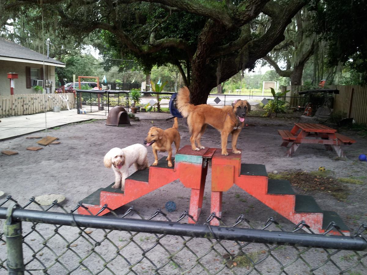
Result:
<instances>
[{"instance_id":1,"label":"white curly-haired dog standing on the lower red stairs","mask_svg":"<svg viewBox=\"0 0 367 275\"><path fill-rule=\"evenodd\" d=\"M148 150L142 144L133 144L125 148L112 148L108 151L103 159L103 163L107 168L113 169L115 172L115 184L112 188L120 188L124 191L125 179L128 176L129 167L135 164L138 170L148 168Z\"/></svg>"}]
</instances>

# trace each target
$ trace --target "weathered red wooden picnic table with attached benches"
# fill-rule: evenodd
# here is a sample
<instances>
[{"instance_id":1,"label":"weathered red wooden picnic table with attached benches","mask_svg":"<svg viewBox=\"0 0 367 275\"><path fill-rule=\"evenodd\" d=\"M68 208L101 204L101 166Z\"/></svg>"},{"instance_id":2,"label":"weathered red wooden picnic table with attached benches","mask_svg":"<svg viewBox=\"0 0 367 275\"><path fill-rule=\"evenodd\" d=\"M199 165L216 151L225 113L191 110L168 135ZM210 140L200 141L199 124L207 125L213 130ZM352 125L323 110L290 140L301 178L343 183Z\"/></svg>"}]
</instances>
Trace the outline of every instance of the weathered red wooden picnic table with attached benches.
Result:
<instances>
[{"instance_id":1,"label":"weathered red wooden picnic table with attached benches","mask_svg":"<svg viewBox=\"0 0 367 275\"><path fill-rule=\"evenodd\" d=\"M315 123L295 123L291 131L278 130L283 139L281 146L287 147L292 143L287 151L288 157L297 150L301 143L324 144L326 150L337 152L338 157L345 157L342 145L350 145L356 141L350 137L337 133L336 129L322 124Z\"/></svg>"}]
</instances>

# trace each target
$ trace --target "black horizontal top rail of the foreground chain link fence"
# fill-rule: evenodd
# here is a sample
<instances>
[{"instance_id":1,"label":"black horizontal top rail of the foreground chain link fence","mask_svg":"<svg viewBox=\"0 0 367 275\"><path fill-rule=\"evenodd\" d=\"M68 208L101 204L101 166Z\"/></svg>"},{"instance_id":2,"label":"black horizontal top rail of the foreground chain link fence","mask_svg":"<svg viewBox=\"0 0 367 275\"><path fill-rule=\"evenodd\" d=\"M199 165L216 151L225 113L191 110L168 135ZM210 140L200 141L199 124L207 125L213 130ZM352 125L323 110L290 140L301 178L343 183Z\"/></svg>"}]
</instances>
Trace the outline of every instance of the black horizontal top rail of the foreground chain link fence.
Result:
<instances>
[{"instance_id":1,"label":"black horizontal top rail of the foreground chain link fence","mask_svg":"<svg viewBox=\"0 0 367 275\"><path fill-rule=\"evenodd\" d=\"M6 217L7 209L0 207L0 219ZM37 210L14 209L14 220L37 223L71 225L108 230L194 236L196 238L222 239L229 241L270 243L329 249L366 251L367 242L361 236L335 236L322 234L304 234L283 231L210 226L207 224L181 224L173 221L153 221L126 219L119 217L90 216Z\"/></svg>"}]
</instances>

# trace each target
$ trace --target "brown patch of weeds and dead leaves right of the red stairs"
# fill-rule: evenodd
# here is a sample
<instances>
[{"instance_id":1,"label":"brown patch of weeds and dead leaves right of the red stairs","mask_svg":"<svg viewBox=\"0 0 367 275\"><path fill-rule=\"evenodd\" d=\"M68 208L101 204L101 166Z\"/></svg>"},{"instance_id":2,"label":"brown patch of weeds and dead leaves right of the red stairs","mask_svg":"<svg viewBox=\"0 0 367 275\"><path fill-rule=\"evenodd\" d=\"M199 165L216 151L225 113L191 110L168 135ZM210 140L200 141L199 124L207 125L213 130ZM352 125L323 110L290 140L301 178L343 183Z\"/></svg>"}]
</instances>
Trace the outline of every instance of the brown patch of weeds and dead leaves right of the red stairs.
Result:
<instances>
[{"instance_id":1,"label":"brown patch of weeds and dead leaves right of the red stairs","mask_svg":"<svg viewBox=\"0 0 367 275\"><path fill-rule=\"evenodd\" d=\"M345 201L348 196L348 187L344 186L339 179L332 177L330 170L269 173L268 177L269 179L289 180L292 186L300 188L305 193L313 191L326 193L333 195L339 201Z\"/></svg>"}]
</instances>

